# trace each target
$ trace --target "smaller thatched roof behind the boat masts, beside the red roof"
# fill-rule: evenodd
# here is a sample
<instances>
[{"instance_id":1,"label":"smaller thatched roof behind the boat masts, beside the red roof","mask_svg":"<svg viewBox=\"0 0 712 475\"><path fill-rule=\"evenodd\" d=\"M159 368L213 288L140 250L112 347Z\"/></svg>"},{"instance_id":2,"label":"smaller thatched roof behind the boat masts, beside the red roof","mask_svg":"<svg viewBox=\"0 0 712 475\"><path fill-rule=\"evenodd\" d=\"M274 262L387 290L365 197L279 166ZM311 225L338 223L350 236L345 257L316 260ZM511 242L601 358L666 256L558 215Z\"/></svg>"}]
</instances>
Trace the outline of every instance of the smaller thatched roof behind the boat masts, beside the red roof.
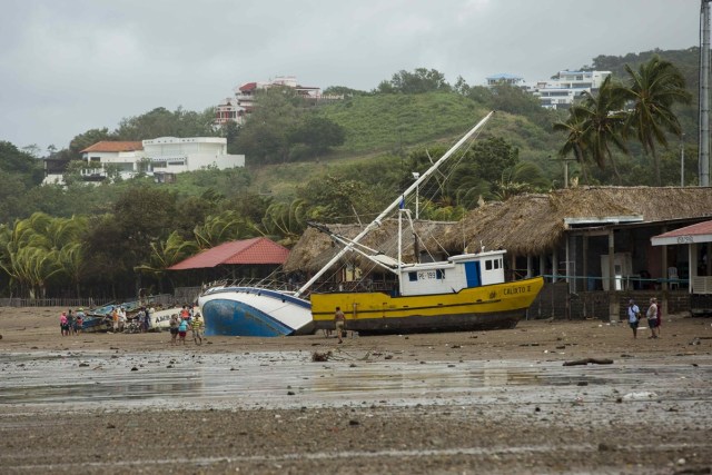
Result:
<instances>
[{"instance_id":1,"label":"smaller thatched roof behind the boat masts, beside the red roof","mask_svg":"<svg viewBox=\"0 0 712 475\"><path fill-rule=\"evenodd\" d=\"M364 226L358 225L328 225L327 227L338 235L346 238L354 238L363 230ZM421 250L429 250L435 254L442 251L438 245L438 237L445 234L446 228L454 226L454 222L437 221L417 221L414 222L415 230L421 237ZM403 260L413 261L413 243L409 238L411 228L407 221L403 221ZM396 257L398 253L398 221L396 219L386 219L382 226L369 232L362 244L382 251L385 255ZM332 246L332 239L328 235L314 229L307 229L299 241L295 245L289 254L289 258L284 265L286 271L319 270L326 263L332 259L340 247ZM364 265L367 259L356 253L347 253L343 257L344 263L358 263Z\"/></svg>"}]
</instances>

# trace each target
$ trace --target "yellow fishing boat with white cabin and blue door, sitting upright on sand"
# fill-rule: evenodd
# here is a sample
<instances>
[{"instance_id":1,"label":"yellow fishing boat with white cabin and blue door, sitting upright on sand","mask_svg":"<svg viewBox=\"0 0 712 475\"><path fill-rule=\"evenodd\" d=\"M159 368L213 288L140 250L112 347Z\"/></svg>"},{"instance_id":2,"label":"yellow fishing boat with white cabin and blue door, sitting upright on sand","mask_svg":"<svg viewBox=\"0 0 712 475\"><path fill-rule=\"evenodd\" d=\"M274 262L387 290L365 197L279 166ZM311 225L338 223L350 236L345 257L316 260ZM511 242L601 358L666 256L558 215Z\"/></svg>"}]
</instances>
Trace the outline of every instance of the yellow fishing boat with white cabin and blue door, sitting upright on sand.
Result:
<instances>
[{"instance_id":1,"label":"yellow fishing boat with white cabin and blue door, sitting upright on sand","mask_svg":"<svg viewBox=\"0 0 712 475\"><path fill-rule=\"evenodd\" d=\"M395 296L313 293L315 328L334 328L336 307L346 315L346 328L362 335L513 328L544 281L536 277L505 283L504 254L483 251L402 266Z\"/></svg>"}]
</instances>

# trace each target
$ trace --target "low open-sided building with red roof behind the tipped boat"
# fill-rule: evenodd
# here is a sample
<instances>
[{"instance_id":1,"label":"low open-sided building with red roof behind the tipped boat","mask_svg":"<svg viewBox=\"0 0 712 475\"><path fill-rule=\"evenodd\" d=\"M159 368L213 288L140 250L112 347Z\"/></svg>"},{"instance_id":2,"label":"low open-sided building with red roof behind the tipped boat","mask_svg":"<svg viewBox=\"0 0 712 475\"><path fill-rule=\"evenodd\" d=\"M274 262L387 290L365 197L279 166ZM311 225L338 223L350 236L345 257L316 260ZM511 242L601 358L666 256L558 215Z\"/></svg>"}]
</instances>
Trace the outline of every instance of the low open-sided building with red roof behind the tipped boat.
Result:
<instances>
[{"instance_id":1,"label":"low open-sided building with red roof behind the tipped boat","mask_svg":"<svg viewBox=\"0 0 712 475\"><path fill-rule=\"evenodd\" d=\"M265 237L224 243L168 268L202 269L207 279L264 278L289 257L289 249Z\"/></svg>"}]
</instances>

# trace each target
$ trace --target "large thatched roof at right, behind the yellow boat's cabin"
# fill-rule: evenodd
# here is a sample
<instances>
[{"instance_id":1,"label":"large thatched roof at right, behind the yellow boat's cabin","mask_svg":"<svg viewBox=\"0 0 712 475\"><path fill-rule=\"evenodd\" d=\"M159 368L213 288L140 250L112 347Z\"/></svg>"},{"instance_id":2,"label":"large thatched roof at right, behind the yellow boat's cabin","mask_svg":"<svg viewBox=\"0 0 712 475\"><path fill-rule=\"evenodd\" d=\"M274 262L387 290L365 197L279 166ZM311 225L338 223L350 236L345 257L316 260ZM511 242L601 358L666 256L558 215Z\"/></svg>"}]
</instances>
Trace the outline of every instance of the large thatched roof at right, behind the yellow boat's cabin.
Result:
<instances>
[{"instance_id":1,"label":"large thatched roof at right, behind the yellow boat's cabin","mask_svg":"<svg viewBox=\"0 0 712 475\"><path fill-rule=\"evenodd\" d=\"M517 255L551 251L562 241L565 219L642 217L644 222L698 218L712 212L712 188L577 187L548 195L521 195L472 211L448 229L447 249L475 250L479 243Z\"/></svg>"}]
</instances>

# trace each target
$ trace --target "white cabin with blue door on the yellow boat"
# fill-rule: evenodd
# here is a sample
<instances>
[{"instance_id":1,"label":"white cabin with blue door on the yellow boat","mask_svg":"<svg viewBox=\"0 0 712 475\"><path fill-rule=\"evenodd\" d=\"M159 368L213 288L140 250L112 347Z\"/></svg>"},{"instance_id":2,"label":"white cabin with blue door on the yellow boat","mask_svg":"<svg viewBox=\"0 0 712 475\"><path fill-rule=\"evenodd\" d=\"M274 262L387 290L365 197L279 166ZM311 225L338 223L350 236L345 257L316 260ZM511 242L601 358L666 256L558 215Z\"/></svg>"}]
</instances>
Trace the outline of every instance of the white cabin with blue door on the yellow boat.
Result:
<instances>
[{"instance_id":1,"label":"white cabin with blue door on the yellow boat","mask_svg":"<svg viewBox=\"0 0 712 475\"><path fill-rule=\"evenodd\" d=\"M452 256L446 261L399 268L400 295L432 295L504 283L506 250Z\"/></svg>"}]
</instances>

